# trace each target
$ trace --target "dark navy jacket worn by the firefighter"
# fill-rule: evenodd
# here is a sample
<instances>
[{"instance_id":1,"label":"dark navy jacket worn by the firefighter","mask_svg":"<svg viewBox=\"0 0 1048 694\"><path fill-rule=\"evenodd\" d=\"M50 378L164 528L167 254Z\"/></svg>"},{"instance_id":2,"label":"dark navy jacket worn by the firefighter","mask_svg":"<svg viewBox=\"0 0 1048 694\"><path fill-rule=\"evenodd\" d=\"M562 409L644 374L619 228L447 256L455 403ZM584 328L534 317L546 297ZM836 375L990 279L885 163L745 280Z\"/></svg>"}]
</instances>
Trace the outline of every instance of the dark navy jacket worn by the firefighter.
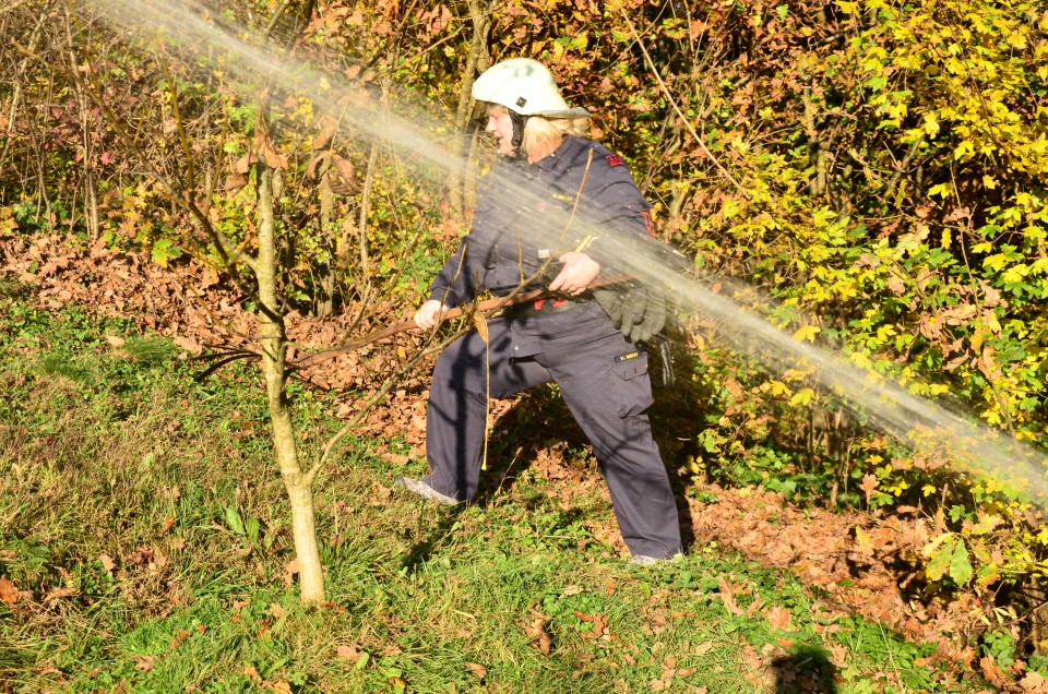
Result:
<instances>
[{"instance_id":1,"label":"dark navy jacket worn by the firefighter","mask_svg":"<svg viewBox=\"0 0 1048 694\"><path fill-rule=\"evenodd\" d=\"M483 290L505 296L528 278L523 290L545 287L560 270L557 259L586 238L585 252L602 274L614 274L615 258L603 253L609 244L602 240L646 236L648 210L622 159L596 142L569 136L531 165L499 159L481 181L473 228L433 279L430 298L454 307ZM617 332L594 301L513 321L524 344L519 356Z\"/></svg>"}]
</instances>

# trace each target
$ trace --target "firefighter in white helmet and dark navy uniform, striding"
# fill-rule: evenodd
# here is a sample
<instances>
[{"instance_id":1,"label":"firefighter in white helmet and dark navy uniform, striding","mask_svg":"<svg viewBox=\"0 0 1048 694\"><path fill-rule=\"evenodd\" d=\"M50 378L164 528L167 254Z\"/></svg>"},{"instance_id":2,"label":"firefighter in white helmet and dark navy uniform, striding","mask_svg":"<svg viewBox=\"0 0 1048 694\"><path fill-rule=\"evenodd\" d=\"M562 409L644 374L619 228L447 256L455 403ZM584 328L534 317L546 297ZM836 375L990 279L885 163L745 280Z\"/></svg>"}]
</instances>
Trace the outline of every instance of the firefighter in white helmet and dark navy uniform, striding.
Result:
<instances>
[{"instance_id":1,"label":"firefighter in white helmet and dark navy uniform, striding","mask_svg":"<svg viewBox=\"0 0 1048 694\"><path fill-rule=\"evenodd\" d=\"M477 493L487 398L553 381L590 439L633 562L681 551L677 506L646 414L647 355L665 299L635 283L593 289L615 267L609 249L647 235L644 200L622 159L586 140L590 113L570 108L552 74L531 59L500 62L473 86L499 157L479 186L471 232L430 286L415 323L481 291L546 286L550 298L509 309L437 360L426 419L429 474L396 482L430 501ZM599 284L599 283L598 283Z\"/></svg>"}]
</instances>

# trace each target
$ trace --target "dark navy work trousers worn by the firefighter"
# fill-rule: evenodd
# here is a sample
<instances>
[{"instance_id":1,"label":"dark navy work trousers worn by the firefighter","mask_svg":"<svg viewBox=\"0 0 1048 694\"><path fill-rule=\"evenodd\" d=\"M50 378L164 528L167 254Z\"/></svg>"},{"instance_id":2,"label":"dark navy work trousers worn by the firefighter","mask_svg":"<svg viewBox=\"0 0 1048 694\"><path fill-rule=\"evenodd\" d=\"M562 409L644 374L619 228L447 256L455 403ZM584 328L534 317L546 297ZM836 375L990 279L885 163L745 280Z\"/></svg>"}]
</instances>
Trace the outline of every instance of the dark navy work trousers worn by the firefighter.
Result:
<instances>
[{"instance_id":1,"label":"dark navy work trousers worn by the firefighter","mask_svg":"<svg viewBox=\"0 0 1048 694\"><path fill-rule=\"evenodd\" d=\"M487 373L496 398L555 381L593 444L630 552L657 559L680 552L677 506L646 415L652 404L647 355L616 333L517 359L511 319L489 321L488 336L487 356L484 340L473 331L437 360L426 419L426 482L460 501L476 495Z\"/></svg>"}]
</instances>

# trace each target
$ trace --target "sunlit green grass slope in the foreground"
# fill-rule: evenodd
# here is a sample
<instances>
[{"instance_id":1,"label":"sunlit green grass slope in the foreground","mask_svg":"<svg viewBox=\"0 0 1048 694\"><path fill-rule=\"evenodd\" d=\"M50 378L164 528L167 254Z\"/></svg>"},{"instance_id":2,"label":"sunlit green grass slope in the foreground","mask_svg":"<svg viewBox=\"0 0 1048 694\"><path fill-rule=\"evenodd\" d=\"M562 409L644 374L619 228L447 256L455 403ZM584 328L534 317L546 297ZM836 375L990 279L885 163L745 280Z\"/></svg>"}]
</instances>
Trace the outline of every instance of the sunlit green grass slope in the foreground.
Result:
<instances>
[{"instance_id":1,"label":"sunlit green grass slope in the foreground","mask_svg":"<svg viewBox=\"0 0 1048 694\"><path fill-rule=\"evenodd\" d=\"M719 548L626 564L588 529L611 514L596 493L564 510L524 472L433 507L359 441L319 481L330 603L302 609L250 364L200 383L165 340L17 300L0 324L0 575L27 594L0 603L4 691L981 689ZM299 403L301 426L335 426Z\"/></svg>"}]
</instances>

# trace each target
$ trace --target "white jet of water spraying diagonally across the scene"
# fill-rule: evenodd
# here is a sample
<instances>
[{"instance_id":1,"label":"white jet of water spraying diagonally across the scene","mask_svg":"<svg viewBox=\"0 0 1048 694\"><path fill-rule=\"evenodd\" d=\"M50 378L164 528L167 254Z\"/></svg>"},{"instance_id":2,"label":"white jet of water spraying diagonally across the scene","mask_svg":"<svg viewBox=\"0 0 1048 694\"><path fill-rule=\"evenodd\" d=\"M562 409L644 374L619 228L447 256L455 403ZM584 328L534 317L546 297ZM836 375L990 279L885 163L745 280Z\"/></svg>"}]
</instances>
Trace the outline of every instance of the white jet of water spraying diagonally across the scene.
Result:
<instances>
[{"instance_id":1,"label":"white jet of water spraying diagonally across the scene","mask_svg":"<svg viewBox=\"0 0 1048 694\"><path fill-rule=\"evenodd\" d=\"M416 157L436 181L463 170L462 161L454 160L424 134L424 129L412 124L431 120L430 113L412 113L408 118L407 109L398 105L401 116L394 116L368 99L347 98L353 94L352 85L341 84L332 75L319 73L300 61L259 49L240 38L246 35L242 28L221 26L213 19L215 13L204 4L193 0L99 0L92 4L112 22L145 38L158 36L176 45L193 49L209 46L224 53L223 69L235 72L239 80L312 100L318 110L340 119L349 134L388 143L402 154ZM520 202L535 208L540 201ZM599 225L584 216L569 222L565 215L563 223L571 226L572 238L604 236ZM564 226L552 224L546 229L528 229L527 234L538 246L557 249L563 244L563 229ZM615 272L663 283L679 297L686 310L730 326L740 336L735 345L740 350L773 369L811 372L812 380L851 403L872 426L906 442L915 451L949 456L962 466L993 472L1002 480L1025 480L1031 491L1048 494L1048 457L1044 453L917 397L900 384L859 369L841 356L798 342L728 297L711 291L701 282L669 275L664 262L665 248L657 242L631 241L616 235L606 239L610 254L616 258ZM602 249L609 252L605 247ZM775 358L770 360L769 354Z\"/></svg>"}]
</instances>

